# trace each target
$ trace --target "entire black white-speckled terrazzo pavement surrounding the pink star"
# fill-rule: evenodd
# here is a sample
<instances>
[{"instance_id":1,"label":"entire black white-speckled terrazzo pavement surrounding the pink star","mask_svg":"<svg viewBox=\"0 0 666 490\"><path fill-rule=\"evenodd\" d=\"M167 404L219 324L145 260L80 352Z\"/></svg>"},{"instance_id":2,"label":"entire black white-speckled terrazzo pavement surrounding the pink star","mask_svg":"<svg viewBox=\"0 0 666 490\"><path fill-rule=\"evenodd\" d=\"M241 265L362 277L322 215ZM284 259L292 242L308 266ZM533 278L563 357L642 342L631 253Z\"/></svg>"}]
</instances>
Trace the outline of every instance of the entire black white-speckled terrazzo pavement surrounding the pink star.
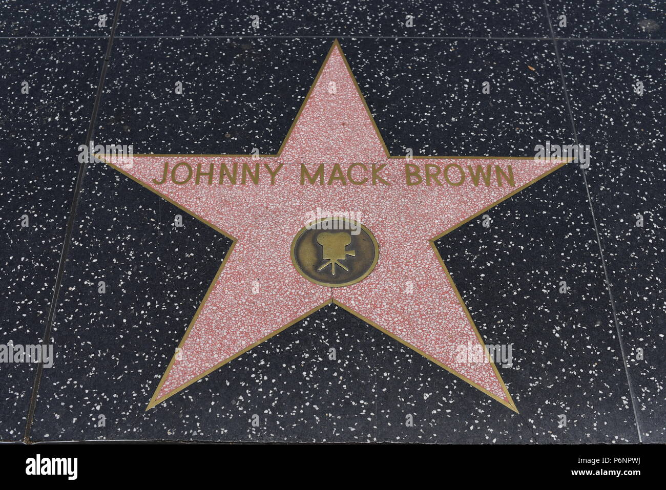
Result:
<instances>
[{"instance_id":1,"label":"entire black white-speckled terrazzo pavement surrounding the pink star","mask_svg":"<svg viewBox=\"0 0 666 490\"><path fill-rule=\"evenodd\" d=\"M116 7L0 5L0 342L56 356L0 365L0 440L666 442L662 2L123 1L94 114ZM392 154L591 146L438 243L519 415L334 306L144 411L228 240L99 164L66 236L77 146L274 152L335 38Z\"/></svg>"}]
</instances>

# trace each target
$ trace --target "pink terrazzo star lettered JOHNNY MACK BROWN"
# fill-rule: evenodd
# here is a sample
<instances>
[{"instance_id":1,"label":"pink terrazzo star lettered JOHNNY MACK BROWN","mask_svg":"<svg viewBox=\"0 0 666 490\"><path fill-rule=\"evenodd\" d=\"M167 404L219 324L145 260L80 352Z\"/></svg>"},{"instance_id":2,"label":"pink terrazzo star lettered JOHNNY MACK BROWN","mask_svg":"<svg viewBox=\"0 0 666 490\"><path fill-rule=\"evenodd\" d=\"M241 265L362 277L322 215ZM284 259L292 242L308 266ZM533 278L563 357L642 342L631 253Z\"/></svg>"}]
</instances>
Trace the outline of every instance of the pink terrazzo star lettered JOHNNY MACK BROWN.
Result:
<instances>
[{"instance_id":1,"label":"pink terrazzo star lettered JOHNNY MACK BROWN","mask_svg":"<svg viewBox=\"0 0 666 490\"><path fill-rule=\"evenodd\" d=\"M206 175L199 184L194 176L184 184L170 180L158 184L165 162L168 168L180 162L194 170L200 166L202 172L212 164L212 184ZM368 168L366 173L357 165L351 174L357 182L368 177L364 185L340 180L330 185L301 184L301 164L314 174L321 163L328 172L335 163L344 169L354 162ZM219 184L222 163L228 168L238 165L236 185ZM240 184L243 164L254 169L256 163L258 184L250 180ZM418 164L422 176L426 164L454 166L450 182L440 174L442 185L434 180L425 185L424 180L410 186L406 163ZM272 183L268 170L274 172L280 164ZM385 164L378 175L390 185L372 184L372 164L376 168ZM149 408L334 302L517 411L487 356L480 362L459 355L461 346L484 344L432 242L561 164L562 160L533 158L390 156L336 41L277 155L142 155L135 156L131 165L113 165L234 240ZM456 185L462 175L456 166L468 172L468 167L479 165L489 169L510 165L512 184L484 185L478 178L475 184L468 175ZM176 180L186 180L188 166L178 167ZM327 173L325 183L328 178ZM340 288L319 286L292 265L292 240L318 208L358 212L376 237L379 260L361 282Z\"/></svg>"}]
</instances>

